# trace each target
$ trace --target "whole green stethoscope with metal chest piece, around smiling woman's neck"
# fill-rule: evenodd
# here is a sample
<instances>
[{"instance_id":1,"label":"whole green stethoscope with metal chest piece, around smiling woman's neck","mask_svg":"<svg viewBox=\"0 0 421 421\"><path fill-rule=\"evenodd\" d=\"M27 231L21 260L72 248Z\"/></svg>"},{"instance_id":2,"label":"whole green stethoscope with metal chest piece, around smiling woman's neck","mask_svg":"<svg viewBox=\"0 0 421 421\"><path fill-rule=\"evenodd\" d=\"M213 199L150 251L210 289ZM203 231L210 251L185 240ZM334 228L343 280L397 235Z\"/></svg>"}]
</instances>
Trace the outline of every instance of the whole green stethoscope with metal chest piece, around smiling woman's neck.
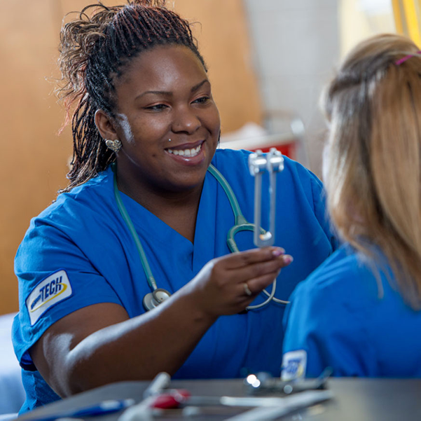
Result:
<instances>
[{"instance_id":1,"label":"whole green stethoscope with metal chest piece, around smiling woman's neck","mask_svg":"<svg viewBox=\"0 0 421 421\"><path fill-rule=\"evenodd\" d=\"M116 177L116 163L111 164L111 168L113 170L113 186L114 186L114 196L116 198L116 203L118 210L120 211L121 216L123 217L123 220L125 221L125 224L127 228L130 231L130 235L132 235L132 238L134 240L134 243L136 244L137 251L139 252L140 261L142 263L142 267L144 269L144 273L146 276L146 281L148 282L149 288L151 288L151 292L146 294L143 298L143 305L144 309L146 311L152 310L153 308L158 307L160 303L163 303L163 301L170 298L171 294L169 291L163 288L158 288L158 285L156 284L156 280L153 277L151 267L149 266L148 259L146 258L146 254L144 252L144 249L142 247L142 243L140 242L139 235L137 235L137 232L134 228L134 225L132 223L132 219L130 219L130 216L127 212L127 209L125 208L125 205L123 203L123 200L121 199L120 191L118 190L117 185L117 177ZM238 205L237 198L235 197L235 194L233 192L233 189L228 184L228 181L226 181L225 177L219 172L219 170L216 170L216 168L210 164L207 171L212 174L212 176L218 181L218 183L223 188L223 191L225 191L227 198L230 202L231 209L233 209L233 213L235 216L235 225L228 230L227 234L227 245L228 249L231 253L238 253L239 249L237 247L237 243L235 242L235 235L237 233L240 233L240 231L253 231L256 235L255 227L256 224L249 223L247 219L244 218L244 215L241 212L240 205ZM259 224L260 226L260 224ZM266 231L263 230L263 228L260 229L260 237L264 237L267 235ZM263 301L261 304L257 305L249 305L247 307L247 310L256 310L258 308L263 307L264 305L267 305L270 303L270 301L275 301L276 303L280 304L287 304L288 301L279 300L278 298L275 298L275 291L276 291L276 279L272 282L272 291L268 293L265 289L263 289L263 293L268 296L268 298Z\"/></svg>"}]
</instances>

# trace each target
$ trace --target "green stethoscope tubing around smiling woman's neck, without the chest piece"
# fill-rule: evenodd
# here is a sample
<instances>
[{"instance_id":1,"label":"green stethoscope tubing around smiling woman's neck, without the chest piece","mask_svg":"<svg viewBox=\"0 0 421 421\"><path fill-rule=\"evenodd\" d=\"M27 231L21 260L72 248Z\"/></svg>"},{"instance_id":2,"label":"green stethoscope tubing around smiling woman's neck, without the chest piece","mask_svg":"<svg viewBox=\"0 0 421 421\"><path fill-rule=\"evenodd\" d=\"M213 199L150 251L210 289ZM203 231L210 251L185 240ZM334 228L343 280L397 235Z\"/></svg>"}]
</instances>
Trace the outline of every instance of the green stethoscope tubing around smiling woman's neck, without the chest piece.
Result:
<instances>
[{"instance_id":1,"label":"green stethoscope tubing around smiling woman's neck, without the chest piece","mask_svg":"<svg viewBox=\"0 0 421 421\"><path fill-rule=\"evenodd\" d=\"M111 168L113 170L113 187L114 187L114 196L116 197L116 203L118 210L120 211L121 216L123 217L123 220L125 221L125 224L127 228L130 231L130 235L132 235L132 238L134 240L134 243L136 244L137 251L139 252L140 261L142 263L142 267L144 269L144 273L146 275L146 280L149 284L149 287L151 288L151 291L156 291L158 289L158 286L156 284L156 280L153 277L151 267L149 266L148 259L146 258L146 254L144 252L144 249L142 247L142 243L139 240L139 235L137 235L137 232L134 228L134 225L132 223L132 219L130 219L130 216L127 212L127 209L125 208L125 205L123 203L123 200L121 199L120 191L118 190L117 185L117 177L116 177L116 163L111 164ZM227 245L228 249L230 249L231 253L238 253L239 249L237 247L237 243L235 242L234 236L235 234L239 233L240 231L254 231L254 223L249 223L247 219L244 218L244 215L241 212L240 205L238 205L237 198L235 197L235 193L233 192L233 189L228 184L228 181L226 181L225 177L216 170L216 168L210 164L208 169L210 174L216 179L216 181L219 182L220 186L223 188L223 191L225 191L227 198L230 202L231 209L233 209L233 214L235 217L235 225L228 230L227 234ZM264 234L265 230L260 227L261 233ZM261 304L255 305L255 306L249 306L247 309L252 310L256 308L261 308L263 305L266 305L270 301L275 301L277 303L286 304L287 301L278 300L275 298L275 290L276 290L276 279L272 284L272 291L269 294L268 291L265 291L263 289L263 292L265 293L268 298Z\"/></svg>"}]
</instances>

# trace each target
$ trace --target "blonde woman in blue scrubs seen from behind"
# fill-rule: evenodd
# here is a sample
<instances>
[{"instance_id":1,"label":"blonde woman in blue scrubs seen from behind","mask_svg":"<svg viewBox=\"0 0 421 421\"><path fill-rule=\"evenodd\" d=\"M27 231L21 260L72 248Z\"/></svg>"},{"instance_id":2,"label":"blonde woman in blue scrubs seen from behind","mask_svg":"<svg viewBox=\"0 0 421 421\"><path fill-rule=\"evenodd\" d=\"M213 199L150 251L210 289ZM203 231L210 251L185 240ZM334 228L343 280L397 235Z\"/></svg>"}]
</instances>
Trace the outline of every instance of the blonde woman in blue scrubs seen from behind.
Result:
<instances>
[{"instance_id":1,"label":"blonde woman in blue scrubs seen from behind","mask_svg":"<svg viewBox=\"0 0 421 421\"><path fill-rule=\"evenodd\" d=\"M326 90L324 179L345 240L291 296L282 377L421 377L421 56L360 43Z\"/></svg>"}]
</instances>

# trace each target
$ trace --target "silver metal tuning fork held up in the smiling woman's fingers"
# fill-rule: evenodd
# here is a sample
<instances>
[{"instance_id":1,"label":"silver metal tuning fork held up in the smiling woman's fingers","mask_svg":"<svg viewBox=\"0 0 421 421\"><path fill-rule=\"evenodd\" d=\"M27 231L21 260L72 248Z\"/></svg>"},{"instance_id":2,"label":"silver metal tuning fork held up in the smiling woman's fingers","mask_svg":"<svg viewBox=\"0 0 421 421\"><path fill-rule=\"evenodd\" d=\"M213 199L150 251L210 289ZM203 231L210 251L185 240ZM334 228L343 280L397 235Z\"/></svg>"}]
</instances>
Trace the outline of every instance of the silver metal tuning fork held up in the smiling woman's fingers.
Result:
<instances>
[{"instance_id":1,"label":"silver metal tuning fork held up in the smiling woman's fingers","mask_svg":"<svg viewBox=\"0 0 421 421\"><path fill-rule=\"evenodd\" d=\"M254 245L272 246L275 242L276 173L284 170L284 157L275 148L266 154L258 150L249 155L249 170L254 177ZM261 233L262 175L265 171L269 172L270 215L269 230Z\"/></svg>"}]
</instances>

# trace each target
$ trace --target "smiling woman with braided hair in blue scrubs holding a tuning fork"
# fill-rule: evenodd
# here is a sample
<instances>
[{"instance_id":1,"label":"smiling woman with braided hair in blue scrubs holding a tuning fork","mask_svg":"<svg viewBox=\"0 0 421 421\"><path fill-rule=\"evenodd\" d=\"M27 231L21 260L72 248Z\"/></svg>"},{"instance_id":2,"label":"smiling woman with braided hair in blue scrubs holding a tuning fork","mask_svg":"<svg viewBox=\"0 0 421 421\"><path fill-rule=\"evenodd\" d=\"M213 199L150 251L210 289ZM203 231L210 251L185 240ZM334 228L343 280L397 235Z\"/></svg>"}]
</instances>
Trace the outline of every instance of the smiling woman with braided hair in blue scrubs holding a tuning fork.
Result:
<instances>
[{"instance_id":1,"label":"smiling woman with braided hair in blue scrubs holding a tuning fork","mask_svg":"<svg viewBox=\"0 0 421 421\"><path fill-rule=\"evenodd\" d=\"M275 298L287 300L334 247L319 180L286 158L276 247L255 249L244 231L230 254L233 207L210 170L253 221L249 153L216 150L205 62L188 22L162 3L92 5L62 29L74 158L69 186L32 220L15 260L22 411L160 371L279 375L284 305L245 310L281 269Z\"/></svg>"}]
</instances>

